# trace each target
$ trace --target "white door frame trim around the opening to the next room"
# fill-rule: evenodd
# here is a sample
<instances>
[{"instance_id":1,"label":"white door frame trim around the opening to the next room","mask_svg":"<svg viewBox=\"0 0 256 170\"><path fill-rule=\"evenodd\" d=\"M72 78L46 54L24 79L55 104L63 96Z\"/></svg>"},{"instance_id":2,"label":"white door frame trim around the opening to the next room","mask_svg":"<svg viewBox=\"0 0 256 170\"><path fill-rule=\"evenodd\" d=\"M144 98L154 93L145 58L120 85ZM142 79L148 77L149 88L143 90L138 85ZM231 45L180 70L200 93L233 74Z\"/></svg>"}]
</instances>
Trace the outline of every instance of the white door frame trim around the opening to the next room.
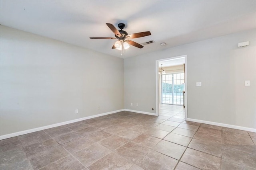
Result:
<instances>
[{"instance_id":1,"label":"white door frame trim around the opening to the next room","mask_svg":"<svg viewBox=\"0 0 256 170\"><path fill-rule=\"evenodd\" d=\"M158 78L158 71L159 71L159 62L160 61L165 61L165 60L171 60L171 59L178 59L178 58L185 58L185 120L188 117L188 78L187 78L187 55L180 55L176 57L170 57L166 59L160 59L156 60L156 115L159 115L159 78Z\"/></svg>"}]
</instances>

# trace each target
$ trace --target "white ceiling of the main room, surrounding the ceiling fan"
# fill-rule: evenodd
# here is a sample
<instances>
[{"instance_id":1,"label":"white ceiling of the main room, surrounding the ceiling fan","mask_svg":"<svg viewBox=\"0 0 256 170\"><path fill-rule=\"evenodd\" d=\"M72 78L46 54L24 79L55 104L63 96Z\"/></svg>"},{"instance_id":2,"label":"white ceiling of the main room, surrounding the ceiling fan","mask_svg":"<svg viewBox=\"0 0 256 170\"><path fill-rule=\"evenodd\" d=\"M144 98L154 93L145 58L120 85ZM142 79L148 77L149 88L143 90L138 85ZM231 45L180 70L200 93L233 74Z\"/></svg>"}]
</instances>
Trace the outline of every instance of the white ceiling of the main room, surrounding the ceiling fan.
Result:
<instances>
[{"instance_id":1,"label":"white ceiling of the main room, surrounding the ceiling fan","mask_svg":"<svg viewBox=\"0 0 256 170\"><path fill-rule=\"evenodd\" d=\"M117 27L121 22L128 34L152 34L133 41L155 43L142 49L132 46L121 56L111 49L115 40L89 39L114 37L106 23ZM256 1L1 0L0 24L126 58L255 28Z\"/></svg>"}]
</instances>

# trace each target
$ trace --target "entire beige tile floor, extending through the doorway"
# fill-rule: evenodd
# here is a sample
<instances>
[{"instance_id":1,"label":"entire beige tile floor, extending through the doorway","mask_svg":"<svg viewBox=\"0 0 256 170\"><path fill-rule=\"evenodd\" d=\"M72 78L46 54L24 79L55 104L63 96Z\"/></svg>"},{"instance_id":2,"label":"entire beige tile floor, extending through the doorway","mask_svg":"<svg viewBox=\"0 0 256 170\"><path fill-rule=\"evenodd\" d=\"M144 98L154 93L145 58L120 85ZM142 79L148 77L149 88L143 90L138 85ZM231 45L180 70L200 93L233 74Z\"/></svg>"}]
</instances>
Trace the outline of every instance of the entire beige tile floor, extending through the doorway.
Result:
<instances>
[{"instance_id":1,"label":"entire beige tile floor, extending through the doorway","mask_svg":"<svg viewBox=\"0 0 256 170\"><path fill-rule=\"evenodd\" d=\"M122 111L0 141L1 170L255 170L256 133Z\"/></svg>"}]
</instances>

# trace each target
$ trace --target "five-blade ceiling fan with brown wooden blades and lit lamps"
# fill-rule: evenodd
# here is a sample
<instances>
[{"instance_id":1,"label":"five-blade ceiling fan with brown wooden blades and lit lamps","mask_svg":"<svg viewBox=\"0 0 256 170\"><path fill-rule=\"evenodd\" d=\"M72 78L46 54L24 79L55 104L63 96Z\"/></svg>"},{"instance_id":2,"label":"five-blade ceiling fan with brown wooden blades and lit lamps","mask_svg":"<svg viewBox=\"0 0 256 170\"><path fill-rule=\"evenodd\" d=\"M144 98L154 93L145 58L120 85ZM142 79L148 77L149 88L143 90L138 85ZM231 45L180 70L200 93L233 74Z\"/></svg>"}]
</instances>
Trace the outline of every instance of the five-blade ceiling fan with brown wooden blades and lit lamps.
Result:
<instances>
[{"instance_id":1,"label":"five-blade ceiling fan with brown wooden blades and lit lamps","mask_svg":"<svg viewBox=\"0 0 256 170\"><path fill-rule=\"evenodd\" d=\"M130 47L130 45L134 46L134 47L138 47L138 48L143 48L142 45L140 45L139 43L136 43L130 39L133 38L140 38L140 37L145 37L148 35L151 35L150 31L146 31L146 32L140 32L140 33L133 33L133 34L129 34L122 30L125 27L124 23L119 23L118 27L121 29L118 31L118 29L116 29L116 27L112 24L112 23L106 23L108 25L108 27L111 29L111 31L115 34L115 38L114 37L90 37L90 39L118 39L118 41L116 41L116 43L114 43L112 49L118 49L121 50L121 55L124 53L124 49L128 49Z\"/></svg>"}]
</instances>

